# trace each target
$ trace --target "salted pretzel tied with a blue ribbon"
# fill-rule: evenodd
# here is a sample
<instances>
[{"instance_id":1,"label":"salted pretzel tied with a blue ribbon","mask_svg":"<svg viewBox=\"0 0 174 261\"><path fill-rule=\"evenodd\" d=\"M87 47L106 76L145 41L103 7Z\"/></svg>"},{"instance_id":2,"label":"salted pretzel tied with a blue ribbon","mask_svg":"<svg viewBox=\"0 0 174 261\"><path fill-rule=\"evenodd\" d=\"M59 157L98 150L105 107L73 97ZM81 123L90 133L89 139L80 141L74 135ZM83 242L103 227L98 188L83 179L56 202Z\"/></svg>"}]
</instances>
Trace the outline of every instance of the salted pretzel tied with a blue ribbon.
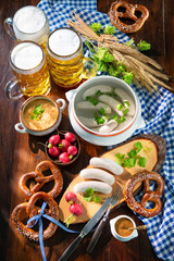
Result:
<instances>
[{"instance_id":1,"label":"salted pretzel tied with a blue ribbon","mask_svg":"<svg viewBox=\"0 0 174 261\"><path fill-rule=\"evenodd\" d=\"M26 236L28 239L35 240L35 241L39 240L39 233L29 228L27 225L25 225L23 223L22 215L24 213L23 212L24 210L29 217L36 215L37 214L36 210L38 210L38 207L36 207L35 203L37 202L38 199L42 199L48 203L50 215L53 219L58 220L59 210L58 210L57 202L48 194L42 191L36 192L35 195L33 195L28 202L17 204L11 214L11 221L14 227L24 236ZM50 222L49 226L44 231L44 235L42 235L44 239L50 238L55 233L57 227L58 225Z\"/></svg>"}]
</instances>

